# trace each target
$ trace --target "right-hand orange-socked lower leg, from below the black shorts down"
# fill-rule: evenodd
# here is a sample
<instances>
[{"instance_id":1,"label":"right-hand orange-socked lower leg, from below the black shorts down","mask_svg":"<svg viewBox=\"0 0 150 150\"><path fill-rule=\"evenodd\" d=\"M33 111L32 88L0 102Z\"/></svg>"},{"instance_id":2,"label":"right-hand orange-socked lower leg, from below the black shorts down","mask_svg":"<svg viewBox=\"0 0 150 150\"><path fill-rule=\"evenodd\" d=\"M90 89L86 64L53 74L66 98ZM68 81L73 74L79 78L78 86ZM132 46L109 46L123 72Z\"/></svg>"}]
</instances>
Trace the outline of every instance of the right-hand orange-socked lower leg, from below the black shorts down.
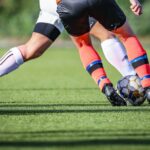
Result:
<instances>
[{"instance_id":1,"label":"right-hand orange-socked lower leg, from below the black shorts down","mask_svg":"<svg viewBox=\"0 0 150 150\"><path fill-rule=\"evenodd\" d=\"M141 78L141 84L146 89L147 99L150 102L150 65L145 49L127 22L115 30L115 33L119 35L123 42L129 61Z\"/></svg>"}]
</instances>

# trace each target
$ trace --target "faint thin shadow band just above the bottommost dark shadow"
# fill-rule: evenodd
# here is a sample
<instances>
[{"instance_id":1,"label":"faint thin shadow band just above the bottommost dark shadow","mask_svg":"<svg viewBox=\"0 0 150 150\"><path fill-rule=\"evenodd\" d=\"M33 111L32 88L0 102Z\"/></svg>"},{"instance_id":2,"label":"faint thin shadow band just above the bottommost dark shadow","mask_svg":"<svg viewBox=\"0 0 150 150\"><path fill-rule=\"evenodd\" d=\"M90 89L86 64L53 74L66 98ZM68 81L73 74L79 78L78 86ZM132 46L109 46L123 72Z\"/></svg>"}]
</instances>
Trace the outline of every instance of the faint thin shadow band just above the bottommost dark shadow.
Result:
<instances>
[{"instance_id":1,"label":"faint thin shadow band just above the bottommost dark shadow","mask_svg":"<svg viewBox=\"0 0 150 150\"><path fill-rule=\"evenodd\" d=\"M103 129L103 130L45 130L45 131L26 131L26 132L0 132L0 135L4 136L30 136L30 137L51 137L51 138L59 138L59 137L149 137L150 138L150 130L147 129Z\"/></svg>"}]
</instances>

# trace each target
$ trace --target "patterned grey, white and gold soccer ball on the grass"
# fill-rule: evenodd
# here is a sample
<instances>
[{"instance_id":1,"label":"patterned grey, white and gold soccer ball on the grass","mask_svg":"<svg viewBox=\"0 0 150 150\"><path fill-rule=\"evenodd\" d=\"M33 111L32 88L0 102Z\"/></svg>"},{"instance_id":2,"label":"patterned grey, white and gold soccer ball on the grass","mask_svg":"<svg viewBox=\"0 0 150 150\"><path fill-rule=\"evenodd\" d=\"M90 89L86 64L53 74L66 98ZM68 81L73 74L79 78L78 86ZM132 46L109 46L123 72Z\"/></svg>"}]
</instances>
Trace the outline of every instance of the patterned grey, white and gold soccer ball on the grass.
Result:
<instances>
[{"instance_id":1,"label":"patterned grey, white and gold soccer ball on the grass","mask_svg":"<svg viewBox=\"0 0 150 150\"><path fill-rule=\"evenodd\" d=\"M119 80L117 91L121 97L134 106L142 105L146 99L140 78L136 75L129 75Z\"/></svg>"}]
</instances>

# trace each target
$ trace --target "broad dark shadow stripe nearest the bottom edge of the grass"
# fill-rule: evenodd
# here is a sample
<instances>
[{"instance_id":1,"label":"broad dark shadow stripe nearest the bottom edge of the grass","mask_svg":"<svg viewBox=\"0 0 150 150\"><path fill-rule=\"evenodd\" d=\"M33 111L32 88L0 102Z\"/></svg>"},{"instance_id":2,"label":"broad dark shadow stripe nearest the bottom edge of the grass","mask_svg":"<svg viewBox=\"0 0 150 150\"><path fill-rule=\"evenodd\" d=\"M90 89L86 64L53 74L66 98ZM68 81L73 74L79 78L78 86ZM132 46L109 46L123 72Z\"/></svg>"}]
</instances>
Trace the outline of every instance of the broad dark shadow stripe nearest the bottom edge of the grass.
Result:
<instances>
[{"instance_id":1,"label":"broad dark shadow stripe nearest the bottom edge of the grass","mask_svg":"<svg viewBox=\"0 0 150 150\"><path fill-rule=\"evenodd\" d=\"M1 141L0 147L77 147L98 145L150 145L147 139L84 139L68 141Z\"/></svg>"}]
</instances>

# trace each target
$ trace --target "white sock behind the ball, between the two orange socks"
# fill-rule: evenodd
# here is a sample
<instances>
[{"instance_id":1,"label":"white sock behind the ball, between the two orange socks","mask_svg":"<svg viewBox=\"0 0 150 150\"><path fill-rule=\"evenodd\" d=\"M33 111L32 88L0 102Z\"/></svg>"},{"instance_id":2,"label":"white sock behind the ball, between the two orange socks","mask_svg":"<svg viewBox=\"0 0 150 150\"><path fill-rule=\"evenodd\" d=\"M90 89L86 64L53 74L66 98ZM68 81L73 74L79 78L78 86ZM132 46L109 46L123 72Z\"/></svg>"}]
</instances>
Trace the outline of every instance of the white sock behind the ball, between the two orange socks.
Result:
<instances>
[{"instance_id":1,"label":"white sock behind the ball, between the two orange socks","mask_svg":"<svg viewBox=\"0 0 150 150\"><path fill-rule=\"evenodd\" d=\"M122 74L122 76L136 74L128 61L124 46L117 38L103 41L101 43L101 47L108 62L114 66Z\"/></svg>"}]
</instances>

